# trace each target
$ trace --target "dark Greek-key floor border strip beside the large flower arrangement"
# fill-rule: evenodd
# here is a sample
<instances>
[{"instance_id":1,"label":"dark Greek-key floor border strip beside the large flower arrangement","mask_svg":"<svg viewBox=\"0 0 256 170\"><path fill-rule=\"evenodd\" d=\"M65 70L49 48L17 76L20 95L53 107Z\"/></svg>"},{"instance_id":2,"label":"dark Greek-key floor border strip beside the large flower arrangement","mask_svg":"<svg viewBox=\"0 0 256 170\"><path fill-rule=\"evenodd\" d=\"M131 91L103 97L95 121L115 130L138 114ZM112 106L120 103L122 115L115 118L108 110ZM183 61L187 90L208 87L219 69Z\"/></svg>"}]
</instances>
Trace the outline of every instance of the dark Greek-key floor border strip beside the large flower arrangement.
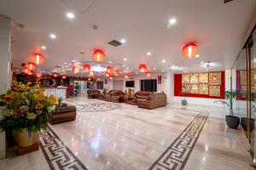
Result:
<instances>
[{"instance_id":1,"label":"dark Greek-key floor border strip beside the large flower arrangement","mask_svg":"<svg viewBox=\"0 0 256 170\"><path fill-rule=\"evenodd\" d=\"M88 170L51 128L40 133L39 143L51 170Z\"/></svg>"}]
</instances>

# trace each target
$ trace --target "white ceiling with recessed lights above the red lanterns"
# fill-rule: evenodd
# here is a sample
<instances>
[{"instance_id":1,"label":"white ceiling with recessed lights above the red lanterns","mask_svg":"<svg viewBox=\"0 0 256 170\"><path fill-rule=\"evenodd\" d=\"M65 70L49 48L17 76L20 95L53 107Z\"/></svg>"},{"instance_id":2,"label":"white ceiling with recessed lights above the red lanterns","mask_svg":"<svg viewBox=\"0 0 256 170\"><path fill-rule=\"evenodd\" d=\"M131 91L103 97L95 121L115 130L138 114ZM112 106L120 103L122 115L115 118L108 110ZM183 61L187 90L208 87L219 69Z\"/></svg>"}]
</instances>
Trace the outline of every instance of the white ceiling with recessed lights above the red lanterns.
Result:
<instances>
[{"instance_id":1,"label":"white ceiling with recessed lights above the red lanterns","mask_svg":"<svg viewBox=\"0 0 256 170\"><path fill-rule=\"evenodd\" d=\"M74 20L67 20L68 11L76 15ZM142 62L159 71L168 65L206 70L201 61L212 61L210 70L230 68L255 11L255 0L0 0L0 14L25 24L12 30L15 67L40 52L46 58L43 70L72 59L89 60L94 48L104 49L107 61L134 71ZM168 28L172 17L177 24ZM52 32L55 40L49 38ZM117 48L107 43L121 38L126 42ZM201 57L184 59L183 44L191 41L198 44Z\"/></svg>"}]
</instances>

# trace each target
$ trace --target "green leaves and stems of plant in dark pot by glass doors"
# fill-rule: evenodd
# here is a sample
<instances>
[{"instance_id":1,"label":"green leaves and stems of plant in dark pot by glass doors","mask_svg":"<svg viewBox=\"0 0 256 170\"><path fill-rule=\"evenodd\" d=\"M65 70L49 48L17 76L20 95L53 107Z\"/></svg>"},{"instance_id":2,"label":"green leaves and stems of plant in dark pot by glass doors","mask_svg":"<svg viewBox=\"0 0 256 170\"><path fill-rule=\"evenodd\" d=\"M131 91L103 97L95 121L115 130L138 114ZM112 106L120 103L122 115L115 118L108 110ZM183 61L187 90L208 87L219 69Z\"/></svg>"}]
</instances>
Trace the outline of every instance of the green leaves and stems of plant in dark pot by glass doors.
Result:
<instances>
[{"instance_id":1,"label":"green leaves and stems of plant in dark pot by glass doors","mask_svg":"<svg viewBox=\"0 0 256 170\"><path fill-rule=\"evenodd\" d=\"M225 91L224 99L219 99L218 101L215 101L214 103L221 103L225 107L230 109L230 116L234 115L233 112L233 105L235 102L237 92L235 90Z\"/></svg>"}]
</instances>

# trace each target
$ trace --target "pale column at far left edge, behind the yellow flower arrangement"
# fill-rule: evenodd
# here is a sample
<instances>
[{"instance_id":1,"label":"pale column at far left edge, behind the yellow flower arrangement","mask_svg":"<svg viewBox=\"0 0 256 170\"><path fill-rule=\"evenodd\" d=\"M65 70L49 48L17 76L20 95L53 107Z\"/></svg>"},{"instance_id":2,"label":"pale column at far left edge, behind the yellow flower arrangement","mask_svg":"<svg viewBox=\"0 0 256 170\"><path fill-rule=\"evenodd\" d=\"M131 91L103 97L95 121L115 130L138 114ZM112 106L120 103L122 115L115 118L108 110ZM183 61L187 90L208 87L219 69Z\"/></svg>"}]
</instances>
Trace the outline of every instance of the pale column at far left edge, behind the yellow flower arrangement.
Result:
<instances>
[{"instance_id":1,"label":"pale column at far left edge, behind the yellow flower arrangement","mask_svg":"<svg viewBox=\"0 0 256 170\"><path fill-rule=\"evenodd\" d=\"M0 94L5 94L10 84L10 19L0 14ZM3 115L0 112L0 120ZM5 132L0 133L0 159L6 155Z\"/></svg>"}]
</instances>

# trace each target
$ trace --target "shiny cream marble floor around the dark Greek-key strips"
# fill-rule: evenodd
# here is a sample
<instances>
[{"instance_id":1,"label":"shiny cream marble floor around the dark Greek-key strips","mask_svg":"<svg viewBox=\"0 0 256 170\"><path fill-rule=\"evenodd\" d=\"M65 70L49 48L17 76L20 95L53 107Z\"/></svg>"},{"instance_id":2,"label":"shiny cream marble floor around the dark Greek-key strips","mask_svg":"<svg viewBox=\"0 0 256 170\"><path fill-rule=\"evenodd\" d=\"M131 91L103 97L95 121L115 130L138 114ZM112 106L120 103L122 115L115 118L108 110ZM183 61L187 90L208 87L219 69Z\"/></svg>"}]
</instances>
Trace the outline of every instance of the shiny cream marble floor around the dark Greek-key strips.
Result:
<instances>
[{"instance_id":1,"label":"shiny cream marble floor around the dark Greek-key strips","mask_svg":"<svg viewBox=\"0 0 256 170\"><path fill-rule=\"evenodd\" d=\"M102 101L86 97L67 99L71 105L95 102ZM183 169L253 169L239 130L227 128L224 116L216 118L214 110L198 105L184 111L177 104L155 110L121 104L113 111L78 111L76 121L49 127L87 169L144 170L152 167L201 111L210 111L210 115L200 125L201 133ZM50 168L43 151L38 150L25 156L9 154L0 160L0 169Z\"/></svg>"}]
</instances>

